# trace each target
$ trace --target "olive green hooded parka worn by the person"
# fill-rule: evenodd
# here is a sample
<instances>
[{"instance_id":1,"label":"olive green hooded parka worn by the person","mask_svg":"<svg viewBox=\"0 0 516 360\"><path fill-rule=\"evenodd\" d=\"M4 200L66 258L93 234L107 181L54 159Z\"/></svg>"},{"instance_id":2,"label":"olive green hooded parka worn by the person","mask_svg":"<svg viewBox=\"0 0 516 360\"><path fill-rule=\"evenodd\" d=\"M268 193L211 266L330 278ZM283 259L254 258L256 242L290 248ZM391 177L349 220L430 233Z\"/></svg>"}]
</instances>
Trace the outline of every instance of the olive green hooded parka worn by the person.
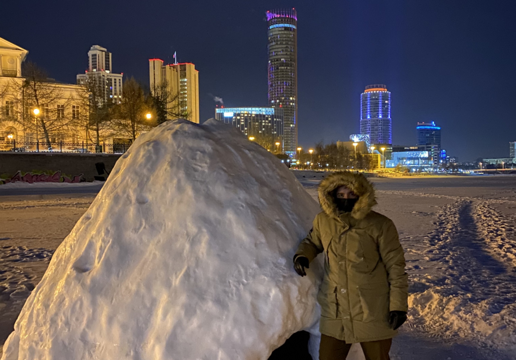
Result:
<instances>
[{"instance_id":1,"label":"olive green hooded parka worn by the person","mask_svg":"<svg viewBox=\"0 0 516 360\"><path fill-rule=\"evenodd\" d=\"M333 193L341 186L359 197L351 212L337 210ZM371 210L373 185L362 174L336 172L322 180L318 197L323 211L295 256L312 261L324 253L320 332L347 343L396 336L389 312L408 309L405 257L392 220Z\"/></svg>"}]
</instances>

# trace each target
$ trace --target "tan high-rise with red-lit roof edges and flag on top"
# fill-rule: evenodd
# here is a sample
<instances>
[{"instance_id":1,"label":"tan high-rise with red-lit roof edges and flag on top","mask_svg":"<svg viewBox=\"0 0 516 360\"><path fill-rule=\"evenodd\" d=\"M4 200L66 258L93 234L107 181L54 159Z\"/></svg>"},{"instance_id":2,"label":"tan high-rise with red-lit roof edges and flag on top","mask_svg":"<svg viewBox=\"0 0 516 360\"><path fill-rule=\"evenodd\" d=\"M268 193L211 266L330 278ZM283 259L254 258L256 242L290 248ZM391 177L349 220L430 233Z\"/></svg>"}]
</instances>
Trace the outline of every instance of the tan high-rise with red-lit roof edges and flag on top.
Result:
<instances>
[{"instance_id":1,"label":"tan high-rise with red-lit roof edges and flag on top","mask_svg":"<svg viewBox=\"0 0 516 360\"><path fill-rule=\"evenodd\" d=\"M163 60L149 60L150 88L153 95L168 99L167 120L172 113L199 124L199 71L190 62L165 65Z\"/></svg>"}]
</instances>

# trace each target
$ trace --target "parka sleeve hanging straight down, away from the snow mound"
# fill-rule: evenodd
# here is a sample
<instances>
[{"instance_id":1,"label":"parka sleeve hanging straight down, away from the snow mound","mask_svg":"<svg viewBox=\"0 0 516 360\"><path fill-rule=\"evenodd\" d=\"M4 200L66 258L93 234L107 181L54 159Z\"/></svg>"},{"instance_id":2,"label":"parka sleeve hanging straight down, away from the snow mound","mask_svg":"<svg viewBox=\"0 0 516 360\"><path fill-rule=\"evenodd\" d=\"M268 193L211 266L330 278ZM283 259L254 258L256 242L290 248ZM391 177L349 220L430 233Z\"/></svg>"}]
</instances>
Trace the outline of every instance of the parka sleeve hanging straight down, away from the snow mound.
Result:
<instances>
[{"instance_id":1,"label":"parka sleeve hanging straight down, away from the snow mound","mask_svg":"<svg viewBox=\"0 0 516 360\"><path fill-rule=\"evenodd\" d=\"M398 231L392 220L386 221L378 241L380 255L388 273L390 291L389 310L408 310L408 275L405 272L405 255L399 242Z\"/></svg>"}]
</instances>

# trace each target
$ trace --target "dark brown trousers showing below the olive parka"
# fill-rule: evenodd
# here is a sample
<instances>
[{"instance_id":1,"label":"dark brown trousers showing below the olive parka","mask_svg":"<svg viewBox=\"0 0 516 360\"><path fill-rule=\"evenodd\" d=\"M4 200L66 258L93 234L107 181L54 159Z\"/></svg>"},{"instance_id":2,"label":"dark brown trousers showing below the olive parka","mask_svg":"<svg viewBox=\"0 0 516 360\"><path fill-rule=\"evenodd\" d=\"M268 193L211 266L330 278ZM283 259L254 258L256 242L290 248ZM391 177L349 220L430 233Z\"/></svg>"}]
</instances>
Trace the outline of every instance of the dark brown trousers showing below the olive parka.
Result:
<instances>
[{"instance_id":1,"label":"dark brown trousers showing below the olive parka","mask_svg":"<svg viewBox=\"0 0 516 360\"><path fill-rule=\"evenodd\" d=\"M385 339L361 342L360 346L366 360L390 360L391 343L392 339ZM321 334L319 360L345 360L350 348L351 344L344 340Z\"/></svg>"}]
</instances>

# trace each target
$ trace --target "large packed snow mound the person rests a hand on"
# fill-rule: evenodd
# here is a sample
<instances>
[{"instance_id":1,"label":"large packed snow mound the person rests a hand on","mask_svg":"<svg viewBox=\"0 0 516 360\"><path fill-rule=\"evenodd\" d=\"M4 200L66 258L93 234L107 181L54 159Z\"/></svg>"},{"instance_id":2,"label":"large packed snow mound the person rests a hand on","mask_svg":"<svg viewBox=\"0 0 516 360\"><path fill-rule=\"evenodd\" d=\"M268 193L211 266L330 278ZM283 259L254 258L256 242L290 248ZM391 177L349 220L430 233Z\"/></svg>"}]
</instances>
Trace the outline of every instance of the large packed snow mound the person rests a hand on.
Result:
<instances>
[{"instance_id":1,"label":"large packed snow mound the person rests a hand on","mask_svg":"<svg viewBox=\"0 0 516 360\"><path fill-rule=\"evenodd\" d=\"M2 359L267 359L316 327L320 267L292 257L318 211L237 129L166 122L117 162Z\"/></svg>"}]
</instances>

